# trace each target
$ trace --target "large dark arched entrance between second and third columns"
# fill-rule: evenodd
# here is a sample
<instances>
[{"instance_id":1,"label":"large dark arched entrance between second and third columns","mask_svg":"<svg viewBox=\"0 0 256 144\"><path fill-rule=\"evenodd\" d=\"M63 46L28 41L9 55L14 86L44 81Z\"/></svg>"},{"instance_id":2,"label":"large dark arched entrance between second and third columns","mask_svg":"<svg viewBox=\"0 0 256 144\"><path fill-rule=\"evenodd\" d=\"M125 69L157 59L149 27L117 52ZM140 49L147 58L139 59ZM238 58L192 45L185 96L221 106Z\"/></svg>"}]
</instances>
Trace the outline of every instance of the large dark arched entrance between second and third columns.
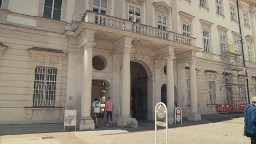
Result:
<instances>
[{"instance_id":1,"label":"large dark arched entrance between second and third columns","mask_svg":"<svg viewBox=\"0 0 256 144\"><path fill-rule=\"evenodd\" d=\"M131 116L147 119L148 74L143 65L131 62Z\"/></svg>"}]
</instances>

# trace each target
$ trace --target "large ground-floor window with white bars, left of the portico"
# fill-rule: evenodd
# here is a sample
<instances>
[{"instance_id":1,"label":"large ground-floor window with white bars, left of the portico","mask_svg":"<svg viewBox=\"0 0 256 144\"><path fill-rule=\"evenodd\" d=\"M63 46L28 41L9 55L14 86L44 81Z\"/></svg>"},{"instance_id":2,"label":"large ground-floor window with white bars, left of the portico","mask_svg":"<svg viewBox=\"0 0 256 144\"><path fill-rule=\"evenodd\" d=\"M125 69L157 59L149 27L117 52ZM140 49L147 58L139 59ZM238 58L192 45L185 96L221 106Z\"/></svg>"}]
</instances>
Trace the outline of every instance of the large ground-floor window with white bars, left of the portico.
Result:
<instances>
[{"instance_id":1,"label":"large ground-floor window with white bars, left of the portico","mask_svg":"<svg viewBox=\"0 0 256 144\"><path fill-rule=\"evenodd\" d=\"M33 106L54 106L57 69L36 67Z\"/></svg>"}]
</instances>

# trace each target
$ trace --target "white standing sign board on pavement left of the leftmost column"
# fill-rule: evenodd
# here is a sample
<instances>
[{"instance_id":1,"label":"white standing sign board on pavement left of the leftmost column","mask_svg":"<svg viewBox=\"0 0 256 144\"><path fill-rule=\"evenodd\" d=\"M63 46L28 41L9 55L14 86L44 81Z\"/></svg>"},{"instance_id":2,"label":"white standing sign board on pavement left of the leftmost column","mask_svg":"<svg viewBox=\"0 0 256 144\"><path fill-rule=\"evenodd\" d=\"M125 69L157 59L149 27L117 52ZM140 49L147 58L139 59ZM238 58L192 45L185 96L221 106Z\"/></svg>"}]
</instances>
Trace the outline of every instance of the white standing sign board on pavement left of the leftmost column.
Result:
<instances>
[{"instance_id":1,"label":"white standing sign board on pavement left of the leftmost column","mask_svg":"<svg viewBox=\"0 0 256 144\"><path fill-rule=\"evenodd\" d=\"M77 110L65 110L64 131L65 126L74 126L75 130L77 130Z\"/></svg>"}]
</instances>

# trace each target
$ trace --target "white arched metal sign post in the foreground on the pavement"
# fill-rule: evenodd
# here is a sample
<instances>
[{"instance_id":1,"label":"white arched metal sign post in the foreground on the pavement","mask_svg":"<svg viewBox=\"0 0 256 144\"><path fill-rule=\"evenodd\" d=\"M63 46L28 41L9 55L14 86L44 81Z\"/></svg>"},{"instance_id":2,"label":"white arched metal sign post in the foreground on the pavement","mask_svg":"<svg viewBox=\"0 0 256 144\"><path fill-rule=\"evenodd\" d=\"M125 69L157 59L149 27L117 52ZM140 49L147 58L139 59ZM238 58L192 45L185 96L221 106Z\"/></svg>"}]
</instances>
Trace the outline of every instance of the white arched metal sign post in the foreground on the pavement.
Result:
<instances>
[{"instance_id":1,"label":"white arched metal sign post in the foreground on the pavement","mask_svg":"<svg viewBox=\"0 0 256 144\"><path fill-rule=\"evenodd\" d=\"M158 118L163 119L165 117L165 122L157 121ZM168 111L167 107L164 103L160 102L155 105L155 144L156 141L156 131L158 130L158 125L161 127L165 127L165 134L166 134L166 144L168 143Z\"/></svg>"}]
</instances>

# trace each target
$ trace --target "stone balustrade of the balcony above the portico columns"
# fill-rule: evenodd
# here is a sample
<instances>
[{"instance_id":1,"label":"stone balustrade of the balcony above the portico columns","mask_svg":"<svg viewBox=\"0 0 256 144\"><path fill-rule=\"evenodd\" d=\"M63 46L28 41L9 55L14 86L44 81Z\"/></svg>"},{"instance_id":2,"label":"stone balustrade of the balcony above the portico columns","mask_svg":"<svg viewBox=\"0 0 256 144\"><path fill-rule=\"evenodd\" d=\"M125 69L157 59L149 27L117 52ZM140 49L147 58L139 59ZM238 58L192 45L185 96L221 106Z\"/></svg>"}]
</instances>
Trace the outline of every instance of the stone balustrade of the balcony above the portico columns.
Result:
<instances>
[{"instance_id":1,"label":"stone balustrade of the balcony above the portico columns","mask_svg":"<svg viewBox=\"0 0 256 144\"><path fill-rule=\"evenodd\" d=\"M115 29L121 29L123 31L148 35L150 37L155 37L159 39L174 41L180 44L195 46L195 38L187 37L185 35L170 32L170 31L164 31L162 29L143 25L141 23L119 19L118 17L95 13L94 11L89 11L89 10L86 11L85 16L82 20L84 22L94 23L96 25L111 27Z\"/></svg>"}]
</instances>

